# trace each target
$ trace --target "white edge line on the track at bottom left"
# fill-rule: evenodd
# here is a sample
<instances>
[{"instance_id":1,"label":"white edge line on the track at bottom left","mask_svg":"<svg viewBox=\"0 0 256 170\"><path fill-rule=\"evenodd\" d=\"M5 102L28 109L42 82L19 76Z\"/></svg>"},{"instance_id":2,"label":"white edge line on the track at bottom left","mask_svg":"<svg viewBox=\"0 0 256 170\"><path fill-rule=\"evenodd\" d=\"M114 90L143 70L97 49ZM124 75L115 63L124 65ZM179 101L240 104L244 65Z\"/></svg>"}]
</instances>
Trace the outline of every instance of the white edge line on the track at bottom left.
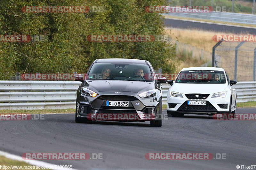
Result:
<instances>
[{"instance_id":1,"label":"white edge line on the track at bottom left","mask_svg":"<svg viewBox=\"0 0 256 170\"><path fill-rule=\"evenodd\" d=\"M25 160L25 159L22 159L21 156L17 156L17 155L13 155L11 153L8 153L8 152L4 152L4 151L0 151L0 156L4 156L5 158L9 158L9 159L12 159L12 160L18 160L18 161L23 161L23 162L26 162L28 164L31 164L31 165L35 165L35 166L58 166L58 165L54 165L54 164L50 164L50 163L46 163L46 162L43 162L43 161L39 161L39 160ZM51 168L48 168L48 169L51 169ZM54 168L52 168L54 169ZM58 170L58 168L55 168ZM63 169L68 169L68 168L63 168ZM74 169L72 168L72 170L77 170L77 169Z\"/></svg>"}]
</instances>

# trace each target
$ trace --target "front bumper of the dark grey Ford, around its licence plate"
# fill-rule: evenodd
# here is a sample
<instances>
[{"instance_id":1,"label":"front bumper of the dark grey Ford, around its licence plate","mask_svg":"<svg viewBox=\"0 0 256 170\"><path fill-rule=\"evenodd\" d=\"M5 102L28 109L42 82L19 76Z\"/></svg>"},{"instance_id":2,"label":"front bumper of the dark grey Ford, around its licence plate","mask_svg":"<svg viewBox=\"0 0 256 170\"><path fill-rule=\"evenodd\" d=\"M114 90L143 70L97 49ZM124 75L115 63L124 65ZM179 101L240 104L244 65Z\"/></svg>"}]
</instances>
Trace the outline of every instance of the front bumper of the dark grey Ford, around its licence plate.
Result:
<instances>
[{"instance_id":1,"label":"front bumper of the dark grey Ford, around its licence plate","mask_svg":"<svg viewBox=\"0 0 256 170\"><path fill-rule=\"evenodd\" d=\"M96 97L77 94L76 111L78 118L103 121L144 122L156 120L160 114L160 105L162 103L158 95L149 98L140 98L138 93L135 92L122 92L122 95L111 94L111 92L97 93L99 95ZM107 100L129 101L129 107L106 106ZM81 110L83 111L81 112ZM99 117L102 119L97 119Z\"/></svg>"}]
</instances>

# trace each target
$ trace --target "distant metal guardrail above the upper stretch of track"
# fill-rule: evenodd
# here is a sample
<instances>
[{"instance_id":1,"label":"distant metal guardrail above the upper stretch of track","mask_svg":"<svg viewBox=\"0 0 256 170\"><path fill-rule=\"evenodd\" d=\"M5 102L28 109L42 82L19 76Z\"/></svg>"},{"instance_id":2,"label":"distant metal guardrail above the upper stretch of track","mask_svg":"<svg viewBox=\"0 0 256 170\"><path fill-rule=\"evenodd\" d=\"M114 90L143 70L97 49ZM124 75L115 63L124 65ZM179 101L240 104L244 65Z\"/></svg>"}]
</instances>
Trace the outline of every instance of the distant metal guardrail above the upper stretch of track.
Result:
<instances>
[{"instance_id":1,"label":"distant metal guardrail above the upper stretch of track","mask_svg":"<svg viewBox=\"0 0 256 170\"><path fill-rule=\"evenodd\" d=\"M165 15L186 17L186 18L199 18L209 19L215 21L226 21L243 24L255 24L256 15L243 14L243 13L232 13L232 12L202 12L202 13L164 13Z\"/></svg>"}]
</instances>

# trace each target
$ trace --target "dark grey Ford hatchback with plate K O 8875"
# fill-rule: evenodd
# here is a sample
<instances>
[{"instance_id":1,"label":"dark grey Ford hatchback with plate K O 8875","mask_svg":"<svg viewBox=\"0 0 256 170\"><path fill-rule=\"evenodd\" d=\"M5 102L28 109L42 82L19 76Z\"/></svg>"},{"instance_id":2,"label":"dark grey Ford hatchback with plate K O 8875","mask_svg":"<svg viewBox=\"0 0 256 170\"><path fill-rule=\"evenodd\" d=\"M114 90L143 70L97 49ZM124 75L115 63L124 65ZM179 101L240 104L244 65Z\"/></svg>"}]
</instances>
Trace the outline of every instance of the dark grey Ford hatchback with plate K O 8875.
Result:
<instances>
[{"instance_id":1,"label":"dark grey Ford hatchback with plate K O 8875","mask_svg":"<svg viewBox=\"0 0 256 170\"><path fill-rule=\"evenodd\" d=\"M76 93L76 122L150 121L162 126L162 92L165 77L155 75L151 64L135 59L97 59Z\"/></svg>"}]
</instances>

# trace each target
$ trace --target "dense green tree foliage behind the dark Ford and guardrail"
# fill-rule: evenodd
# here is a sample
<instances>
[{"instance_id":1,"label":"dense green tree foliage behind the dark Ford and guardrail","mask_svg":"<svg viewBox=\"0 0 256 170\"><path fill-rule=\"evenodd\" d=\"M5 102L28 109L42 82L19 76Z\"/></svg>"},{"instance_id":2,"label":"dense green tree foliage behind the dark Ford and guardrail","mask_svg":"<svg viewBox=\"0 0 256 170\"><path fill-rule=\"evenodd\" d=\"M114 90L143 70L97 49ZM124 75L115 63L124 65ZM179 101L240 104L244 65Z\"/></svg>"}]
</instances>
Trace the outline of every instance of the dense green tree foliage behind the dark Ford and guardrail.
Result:
<instances>
[{"instance_id":1,"label":"dense green tree foliage behind the dark Ford and guardrail","mask_svg":"<svg viewBox=\"0 0 256 170\"><path fill-rule=\"evenodd\" d=\"M2 0L0 35L45 35L48 40L0 42L0 80L15 72L86 72L97 58L148 60L155 69L174 71L175 49L167 42L89 42L95 34L163 34L163 17L145 12L164 0ZM104 6L104 12L24 13L23 6ZM171 61L171 62L170 62Z\"/></svg>"}]
</instances>

